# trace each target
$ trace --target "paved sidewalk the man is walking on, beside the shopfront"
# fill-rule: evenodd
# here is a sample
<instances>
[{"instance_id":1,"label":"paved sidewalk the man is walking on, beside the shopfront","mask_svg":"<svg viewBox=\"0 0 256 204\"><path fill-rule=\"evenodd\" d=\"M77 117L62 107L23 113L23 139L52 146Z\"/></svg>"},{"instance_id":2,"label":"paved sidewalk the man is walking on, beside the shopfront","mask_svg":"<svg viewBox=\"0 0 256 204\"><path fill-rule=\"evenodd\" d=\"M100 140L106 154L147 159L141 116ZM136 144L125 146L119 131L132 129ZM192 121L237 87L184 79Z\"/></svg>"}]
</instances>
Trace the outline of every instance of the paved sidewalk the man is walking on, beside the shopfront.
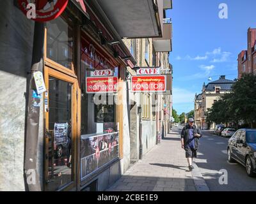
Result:
<instances>
[{"instance_id":1,"label":"paved sidewalk the man is walking on, beside the shopfront","mask_svg":"<svg viewBox=\"0 0 256 204\"><path fill-rule=\"evenodd\" d=\"M188 170L179 129L135 163L106 191L209 191L200 170Z\"/></svg>"}]
</instances>

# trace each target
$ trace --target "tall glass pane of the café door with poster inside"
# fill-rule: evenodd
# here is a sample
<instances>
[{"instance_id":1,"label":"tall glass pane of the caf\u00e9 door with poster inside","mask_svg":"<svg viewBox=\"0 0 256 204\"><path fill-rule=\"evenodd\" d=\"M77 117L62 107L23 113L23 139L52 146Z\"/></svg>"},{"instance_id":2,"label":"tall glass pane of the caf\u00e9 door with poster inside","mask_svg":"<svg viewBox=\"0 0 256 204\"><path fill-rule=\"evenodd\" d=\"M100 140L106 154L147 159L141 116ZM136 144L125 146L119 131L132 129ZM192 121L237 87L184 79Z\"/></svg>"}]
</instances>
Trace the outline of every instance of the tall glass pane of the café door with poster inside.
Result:
<instances>
[{"instance_id":1,"label":"tall glass pane of the caf\u00e9 door with poster inside","mask_svg":"<svg viewBox=\"0 0 256 204\"><path fill-rule=\"evenodd\" d=\"M47 190L72 181L72 84L49 77L49 131Z\"/></svg>"}]
</instances>

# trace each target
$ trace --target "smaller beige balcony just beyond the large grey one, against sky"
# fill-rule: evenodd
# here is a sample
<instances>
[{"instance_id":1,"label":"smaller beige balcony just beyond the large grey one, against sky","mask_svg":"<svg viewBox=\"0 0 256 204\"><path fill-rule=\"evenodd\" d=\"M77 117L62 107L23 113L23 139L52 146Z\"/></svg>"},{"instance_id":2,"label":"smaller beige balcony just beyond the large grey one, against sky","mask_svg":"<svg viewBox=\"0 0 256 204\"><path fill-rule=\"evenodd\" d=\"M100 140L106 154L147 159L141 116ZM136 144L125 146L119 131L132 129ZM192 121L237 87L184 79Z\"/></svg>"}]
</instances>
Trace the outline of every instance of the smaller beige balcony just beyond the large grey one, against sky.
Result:
<instances>
[{"instance_id":1,"label":"smaller beige balcony just beyond the large grey one, against sky","mask_svg":"<svg viewBox=\"0 0 256 204\"><path fill-rule=\"evenodd\" d=\"M172 52L172 20L163 19L163 37L154 38L153 45L156 52Z\"/></svg>"}]
</instances>

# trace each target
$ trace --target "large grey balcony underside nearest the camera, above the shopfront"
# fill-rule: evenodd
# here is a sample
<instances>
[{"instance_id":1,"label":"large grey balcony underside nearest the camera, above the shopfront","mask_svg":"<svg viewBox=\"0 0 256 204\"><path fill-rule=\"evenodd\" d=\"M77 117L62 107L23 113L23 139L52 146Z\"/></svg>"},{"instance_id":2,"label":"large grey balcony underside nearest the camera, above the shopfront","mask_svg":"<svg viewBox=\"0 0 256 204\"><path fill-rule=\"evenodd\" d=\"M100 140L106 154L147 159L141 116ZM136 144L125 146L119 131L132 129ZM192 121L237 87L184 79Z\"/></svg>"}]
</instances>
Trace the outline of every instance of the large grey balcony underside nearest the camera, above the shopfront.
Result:
<instances>
[{"instance_id":1,"label":"large grey balcony underside nearest the camera, above the shopfront","mask_svg":"<svg viewBox=\"0 0 256 204\"><path fill-rule=\"evenodd\" d=\"M162 36L160 19L163 18L163 0L95 0L92 2L100 6L121 38Z\"/></svg>"}]
</instances>

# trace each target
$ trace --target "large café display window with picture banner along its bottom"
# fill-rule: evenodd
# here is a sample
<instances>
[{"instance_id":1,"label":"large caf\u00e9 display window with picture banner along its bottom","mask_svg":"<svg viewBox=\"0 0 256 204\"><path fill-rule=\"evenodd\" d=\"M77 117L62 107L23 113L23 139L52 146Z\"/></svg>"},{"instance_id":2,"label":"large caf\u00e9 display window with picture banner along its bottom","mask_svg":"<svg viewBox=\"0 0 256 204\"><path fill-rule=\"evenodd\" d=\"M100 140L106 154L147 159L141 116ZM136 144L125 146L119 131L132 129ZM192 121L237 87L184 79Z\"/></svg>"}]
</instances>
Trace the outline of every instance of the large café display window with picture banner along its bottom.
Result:
<instances>
[{"instance_id":1,"label":"large caf\u00e9 display window with picture banner along its bottom","mask_svg":"<svg viewBox=\"0 0 256 204\"><path fill-rule=\"evenodd\" d=\"M81 38L81 180L119 157L119 132L116 122L114 92L88 92L86 80L95 76L93 71L111 69L115 64L102 55L97 45ZM93 79L94 80L94 79ZM106 77L108 80L108 77ZM87 90L87 91L86 91ZM93 187L88 187L88 191Z\"/></svg>"}]
</instances>

